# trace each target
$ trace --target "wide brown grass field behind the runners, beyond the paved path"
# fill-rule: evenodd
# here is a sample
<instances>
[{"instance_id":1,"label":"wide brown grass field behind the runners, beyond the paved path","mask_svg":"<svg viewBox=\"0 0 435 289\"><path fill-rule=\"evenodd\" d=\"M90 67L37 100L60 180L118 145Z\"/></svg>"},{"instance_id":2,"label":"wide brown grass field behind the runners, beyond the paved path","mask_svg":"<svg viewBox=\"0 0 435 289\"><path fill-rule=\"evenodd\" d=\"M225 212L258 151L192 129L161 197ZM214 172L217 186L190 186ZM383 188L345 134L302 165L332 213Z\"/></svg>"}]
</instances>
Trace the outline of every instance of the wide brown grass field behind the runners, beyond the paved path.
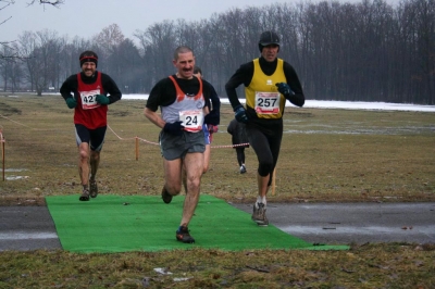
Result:
<instances>
[{"instance_id":1,"label":"wide brown grass field behind the runners, beyond the paved path","mask_svg":"<svg viewBox=\"0 0 435 289\"><path fill-rule=\"evenodd\" d=\"M98 183L102 193L158 194L163 184L158 128L142 115L145 101L111 105ZM78 193L72 111L58 96L0 97L5 142L3 202ZM202 191L233 202L257 194L257 159L247 149L248 173L238 174L223 105ZM434 201L434 113L289 109L276 167L276 202ZM138 160L136 141L139 138ZM224 147L224 148L222 148ZM10 171L23 169L21 172ZM24 198L24 201L23 201ZM38 202L38 201L36 201ZM30 202L32 203L32 202Z\"/></svg>"}]
</instances>

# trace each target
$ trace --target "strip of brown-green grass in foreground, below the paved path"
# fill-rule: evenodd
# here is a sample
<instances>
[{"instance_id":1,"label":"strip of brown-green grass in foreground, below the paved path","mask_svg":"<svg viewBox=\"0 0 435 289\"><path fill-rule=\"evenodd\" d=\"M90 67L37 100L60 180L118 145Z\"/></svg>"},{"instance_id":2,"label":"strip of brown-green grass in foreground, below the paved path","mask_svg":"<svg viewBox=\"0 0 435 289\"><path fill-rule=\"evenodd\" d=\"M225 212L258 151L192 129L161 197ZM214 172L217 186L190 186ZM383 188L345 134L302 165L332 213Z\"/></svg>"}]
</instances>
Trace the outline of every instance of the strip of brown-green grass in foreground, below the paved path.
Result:
<instances>
[{"instance_id":1,"label":"strip of brown-green grass in foreground, below the paved path","mask_svg":"<svg viewBox=\"0 0 435 289\"><path fill-rule=\"evenodd\" d=\"M144 288L148 279L148 288L430 289L435 287L434 249L388 243L349 251L2 252L0 287Z\"/></svg>"}]
</instances>

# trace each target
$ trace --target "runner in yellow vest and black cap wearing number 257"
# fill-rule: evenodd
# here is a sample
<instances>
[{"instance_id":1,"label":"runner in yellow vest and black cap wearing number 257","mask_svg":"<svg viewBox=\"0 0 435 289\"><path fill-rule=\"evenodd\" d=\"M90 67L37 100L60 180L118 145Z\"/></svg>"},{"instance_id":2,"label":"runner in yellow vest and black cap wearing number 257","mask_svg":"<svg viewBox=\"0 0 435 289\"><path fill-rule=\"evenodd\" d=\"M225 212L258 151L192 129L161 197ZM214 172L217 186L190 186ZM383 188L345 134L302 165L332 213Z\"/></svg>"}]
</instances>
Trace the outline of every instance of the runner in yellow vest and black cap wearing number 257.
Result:
<instances>
[{"instance_id":1,"label":"runner in yellow vest and black cap wearing number 257","mask_svg":"<svg viewBox=\"0 0 435 289\"><path fill-rule=\"evenodd\" d=\"M304 96L294 67L278 59L279 37L274 32L260 36L261 56L240 65L225 85L236 120L246 124L249 143L258 161L258 197L252 221L268 226L266 194L278 160L283 138L283 114L286 100L302 106ZM246 108L241 105L236 88L245 85Z\"/></svg>"}]
</instances>

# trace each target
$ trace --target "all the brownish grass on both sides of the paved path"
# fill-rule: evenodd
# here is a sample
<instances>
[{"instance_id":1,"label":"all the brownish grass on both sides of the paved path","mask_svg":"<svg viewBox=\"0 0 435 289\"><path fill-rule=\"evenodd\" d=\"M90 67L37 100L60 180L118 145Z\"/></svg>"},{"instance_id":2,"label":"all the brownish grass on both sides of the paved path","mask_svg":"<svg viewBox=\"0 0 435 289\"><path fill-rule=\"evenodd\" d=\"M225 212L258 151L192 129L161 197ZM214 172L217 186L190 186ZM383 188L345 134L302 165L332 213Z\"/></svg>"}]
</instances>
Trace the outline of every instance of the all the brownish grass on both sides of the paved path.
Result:
<instances>
[{"instance_id":1,"label":"all the brownish grass on both sides of the paved path","mask_svg":"<svg viewBox=\"0 0 435 289\"><path fill-rule=\"evenodd\" d=\"M110 106L97 176L101 193L160 194L159 130L144 116L145 103ZM5 139L1 204L44 205L46 196L78 196L72 117L59 96L0 96ZM223 105L201 191L253 202L256 155L246 150L248 173L238 174L226 134L232 117L229 105ZM434 113L291 108L284 121L269 202L435 200ZM409 243L355 244L346 252L1 252L0 288L140 288L144 277L151 288L434 288L434 244ZM161 275L157 267L174 274ZM178 277L188 279L174 281Z\"/></svg>"}]
</instances>

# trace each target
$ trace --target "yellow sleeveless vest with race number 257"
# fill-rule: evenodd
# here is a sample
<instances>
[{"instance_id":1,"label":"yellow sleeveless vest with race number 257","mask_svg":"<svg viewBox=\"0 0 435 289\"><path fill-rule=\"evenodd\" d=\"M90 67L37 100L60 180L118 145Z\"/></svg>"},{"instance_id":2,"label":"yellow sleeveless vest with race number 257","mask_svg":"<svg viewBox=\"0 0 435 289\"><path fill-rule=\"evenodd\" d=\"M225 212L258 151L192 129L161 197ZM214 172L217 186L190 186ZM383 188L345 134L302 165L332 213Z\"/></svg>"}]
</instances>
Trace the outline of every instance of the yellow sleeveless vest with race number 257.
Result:
<instances>
[{"instance_id":1,"label":"yellow sleeveless vest with race number 257","mask_svg":"<svg viewBox=\"0 0 435 289\"><path fill-rule=\"evenodd\" d=\"M284 61L278 59L276 70L271 76L263 73L259 59L254 59L252 62L253 76L249 86L245 87L246 105L256 110L259 118L283 117L286 99L278 92L275 84L287 83L283 68ZM266 111L262 108L265 108Z\"/></svg>"}]
</instances>

